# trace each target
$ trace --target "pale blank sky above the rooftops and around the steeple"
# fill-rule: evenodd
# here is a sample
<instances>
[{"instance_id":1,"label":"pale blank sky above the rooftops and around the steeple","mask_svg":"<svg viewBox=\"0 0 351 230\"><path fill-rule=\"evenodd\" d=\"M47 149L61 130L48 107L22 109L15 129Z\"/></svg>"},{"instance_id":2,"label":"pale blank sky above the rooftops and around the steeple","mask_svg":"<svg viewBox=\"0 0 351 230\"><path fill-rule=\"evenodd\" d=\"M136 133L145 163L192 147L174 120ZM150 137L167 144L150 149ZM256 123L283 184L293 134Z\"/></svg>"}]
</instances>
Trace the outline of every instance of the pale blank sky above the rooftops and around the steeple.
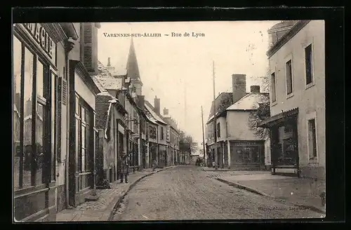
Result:
<instances>
[{"instance_id":1,"label":"pale blank sky above the rooftops and around the steeple","mask_svg":"<svg viewBox=\"0 0 351 230\"><path fill-rule=\"evenodd\" d=\"M215 63L216 96L232 91L232 74L246 74L246 90L260 85L267 72L267 29L277 21L237 22L104 22L98 29L98 59L119 69L126 64L131 38L106 37L104 33L160 33L161 37L134 38L143 94L154 104L161 99L178 127L202 142L201 106L204 122L213 101ZM164 36L171 32L182 36ZM183 36L185 32L190 36ZM193 37L194 33L205 36ZM186 88L186 107L185 107ZM186 109L185 109L186 108ZM201 147L201 146L199 146Z\"/></svg>"}]
</instances>

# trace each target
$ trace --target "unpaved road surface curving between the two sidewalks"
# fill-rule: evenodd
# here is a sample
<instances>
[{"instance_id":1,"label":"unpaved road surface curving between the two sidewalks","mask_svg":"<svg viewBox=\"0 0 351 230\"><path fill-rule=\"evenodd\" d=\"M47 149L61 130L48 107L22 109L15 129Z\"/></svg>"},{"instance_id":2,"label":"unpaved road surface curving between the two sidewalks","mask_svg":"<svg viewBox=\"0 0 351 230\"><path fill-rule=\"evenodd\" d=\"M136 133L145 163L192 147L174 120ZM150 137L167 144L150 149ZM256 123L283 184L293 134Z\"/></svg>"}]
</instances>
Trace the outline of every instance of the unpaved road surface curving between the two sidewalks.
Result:
<instances>
[{"instance_id":1,"label":"unpaved road surface curving between the two sidewalks","mask_svg":"<svg viewBox=\"0 0 351 230\"><path fill-rule=\"evenodd\" d=\"M236 189L196 166L178 166L138 182L114 221L176 219L275 219L321 214Z\"/></svg>"}]
</instances>

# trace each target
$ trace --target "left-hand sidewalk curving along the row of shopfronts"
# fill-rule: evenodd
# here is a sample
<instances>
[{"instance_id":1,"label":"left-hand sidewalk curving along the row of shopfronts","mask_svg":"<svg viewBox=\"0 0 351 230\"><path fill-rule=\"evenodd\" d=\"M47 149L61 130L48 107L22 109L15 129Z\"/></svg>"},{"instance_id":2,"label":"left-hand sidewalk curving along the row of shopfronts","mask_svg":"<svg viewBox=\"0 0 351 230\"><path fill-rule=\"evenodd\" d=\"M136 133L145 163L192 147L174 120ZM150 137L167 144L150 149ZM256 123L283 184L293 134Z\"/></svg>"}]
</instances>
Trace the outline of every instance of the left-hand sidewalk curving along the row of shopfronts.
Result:
<instances>
[{"instance_id":1,"label":"left-hand sidewalk curving along the row of shopfronts","mask_svg":"<svg viewBox=\"0 0 351 230\"><path fill-rule=\"evenodd\" d=\"M99 196L98 201L86 201L76 208L58 212L56 222L108 221L112 218L114 208L136 183L148 175L173 167L176 166L157 168L154 172L151 168L141 172L132 172L128 175L128 183L120 183L118 180L110 184L112 189L96 189L96 194Z\"/></svg>"}]
</instances>

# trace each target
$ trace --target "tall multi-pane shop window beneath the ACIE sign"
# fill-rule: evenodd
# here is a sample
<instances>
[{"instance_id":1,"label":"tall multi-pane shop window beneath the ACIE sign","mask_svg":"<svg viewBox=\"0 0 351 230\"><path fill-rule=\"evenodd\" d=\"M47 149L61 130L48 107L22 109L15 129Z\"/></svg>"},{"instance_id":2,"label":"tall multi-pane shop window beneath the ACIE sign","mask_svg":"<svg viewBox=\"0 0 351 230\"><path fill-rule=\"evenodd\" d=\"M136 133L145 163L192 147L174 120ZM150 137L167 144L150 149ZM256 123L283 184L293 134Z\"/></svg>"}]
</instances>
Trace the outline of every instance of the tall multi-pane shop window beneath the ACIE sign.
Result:
<instances>
[{"instance_id":1,"label":"tall multi-pane shop window beneath the ACIE sign","mask_svg":"<svg viewBox=\"0 0 351 230\"><path fill-rule=\"evenodd\" d=\"M53 89L54 90L54 89ZM41 57L13 36L14 189L55 180L51 167L51 71ZM53 174L50 173L53 172Z\"/></svg>"}]
</instances>

